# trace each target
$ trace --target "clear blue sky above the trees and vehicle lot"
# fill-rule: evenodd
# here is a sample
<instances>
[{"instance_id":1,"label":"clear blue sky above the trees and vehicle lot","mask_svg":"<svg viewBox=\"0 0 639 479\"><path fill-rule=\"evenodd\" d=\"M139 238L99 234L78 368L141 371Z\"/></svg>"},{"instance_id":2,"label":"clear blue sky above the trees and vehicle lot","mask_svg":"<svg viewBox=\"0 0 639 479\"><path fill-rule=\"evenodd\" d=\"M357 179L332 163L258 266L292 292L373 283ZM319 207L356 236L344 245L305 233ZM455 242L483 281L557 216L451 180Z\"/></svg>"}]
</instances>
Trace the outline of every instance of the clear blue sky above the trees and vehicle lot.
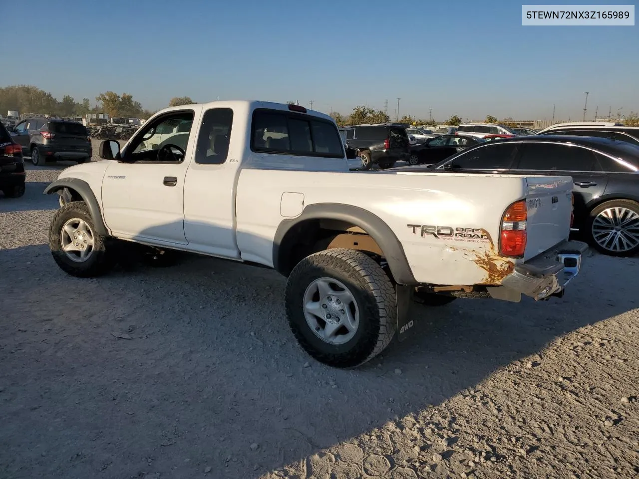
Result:
<instances>
[{"instance_id":1,"label":"clear blue sky above the trees and vehicle lot","mask_svg":"<svg viewBox=\"0 0 639 479\"><path fill-rule=\"evenodd\" d=\"M523 27L514 1L32 0L28 22L24 4L0 3L0 86L59 99L314 100L344 114L388 99L394 116L400 97L422 118L550 119L556 103L556 119L581 119L589 91L590 119L597 105L639 110L639 26Z\"/></svg>"}]
</instances>

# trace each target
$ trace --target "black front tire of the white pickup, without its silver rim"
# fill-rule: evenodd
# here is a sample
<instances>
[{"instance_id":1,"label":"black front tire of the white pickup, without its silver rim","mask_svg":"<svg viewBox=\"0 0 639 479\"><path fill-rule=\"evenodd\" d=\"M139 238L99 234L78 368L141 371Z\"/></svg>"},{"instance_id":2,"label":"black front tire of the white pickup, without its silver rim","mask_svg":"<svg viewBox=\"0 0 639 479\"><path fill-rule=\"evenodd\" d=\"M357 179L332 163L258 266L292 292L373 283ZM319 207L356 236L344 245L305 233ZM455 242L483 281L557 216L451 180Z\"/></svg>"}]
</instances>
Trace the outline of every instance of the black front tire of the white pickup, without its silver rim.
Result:
<instances>
[{"instance_id":1,"label":"black front tire of the white pickup, without its silver rim","mask_svg":"<svg viewBox=\"0 0 639 479\"><path fill-rule=\"evenodd\" d=\"M73 261L62 250L60 232L65 223L72 218L84 220L93 232L93 252L83 262ZM105 247L106 239L95 231L95 223L84 201L72 201L61 206L53 215L49 227L49 249L54 261L65 273L79 278L98 277L111 269L112 261Z\"/></svg>"}]
</instances>

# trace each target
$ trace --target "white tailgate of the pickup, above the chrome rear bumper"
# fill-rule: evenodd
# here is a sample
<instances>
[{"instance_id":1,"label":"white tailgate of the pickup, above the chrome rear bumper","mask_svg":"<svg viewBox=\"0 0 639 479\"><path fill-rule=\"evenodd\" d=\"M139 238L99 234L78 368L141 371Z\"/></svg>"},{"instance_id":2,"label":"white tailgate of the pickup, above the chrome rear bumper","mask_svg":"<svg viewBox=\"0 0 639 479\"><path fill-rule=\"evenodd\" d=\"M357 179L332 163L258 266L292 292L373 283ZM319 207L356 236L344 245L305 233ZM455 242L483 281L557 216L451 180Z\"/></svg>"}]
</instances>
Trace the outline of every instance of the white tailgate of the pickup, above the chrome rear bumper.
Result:
<instances>
[{"instance_id":1,"label":"white tailgate of the pickup, above the chrome rear bumper","mask_svg":"<svg viewBox=\"0 0 639 479\"><path fill-rule=\"evenodd\" d=\"M568 238L573 210L573 178L570 176L529 176L526 181L528 241L525 261Z\"/></svg>"}]
</instances>

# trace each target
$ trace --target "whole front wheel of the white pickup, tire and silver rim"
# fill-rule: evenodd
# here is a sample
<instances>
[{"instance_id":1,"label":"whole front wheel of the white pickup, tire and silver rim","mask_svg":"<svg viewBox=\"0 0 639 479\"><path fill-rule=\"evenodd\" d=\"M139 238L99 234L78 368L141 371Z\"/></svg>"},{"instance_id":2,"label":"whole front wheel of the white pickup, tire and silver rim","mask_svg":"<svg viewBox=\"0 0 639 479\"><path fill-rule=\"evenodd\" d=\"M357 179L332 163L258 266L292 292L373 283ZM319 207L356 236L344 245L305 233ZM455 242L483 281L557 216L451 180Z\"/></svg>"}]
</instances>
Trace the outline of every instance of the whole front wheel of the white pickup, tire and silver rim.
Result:
<instances>
[{"instance_id":1,"label":"whole front wheel of the white pickup, tire and silver rim","mask_svg":"<svg viewBox=\"0 0 639 479\"><path fill-rule=\"evenodd\" d=\"M84 201L72 201L53 215L49 248L61 270L79 278L100 276L111 268L105 238L95 232Z\"/></svg>"}]
</instances>

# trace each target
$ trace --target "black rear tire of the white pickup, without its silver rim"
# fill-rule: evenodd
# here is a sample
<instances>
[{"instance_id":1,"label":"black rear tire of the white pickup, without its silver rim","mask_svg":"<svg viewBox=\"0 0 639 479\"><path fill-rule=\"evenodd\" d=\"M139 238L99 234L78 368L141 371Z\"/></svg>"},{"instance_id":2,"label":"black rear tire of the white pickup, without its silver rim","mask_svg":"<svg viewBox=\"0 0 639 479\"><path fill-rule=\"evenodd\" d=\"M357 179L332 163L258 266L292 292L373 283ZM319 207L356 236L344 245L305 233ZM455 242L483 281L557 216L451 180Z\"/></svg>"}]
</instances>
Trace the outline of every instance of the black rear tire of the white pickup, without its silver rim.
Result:
<instances>
[{"instance_id":1,"label":"black rear tire of the white pickup, without its silver rim","mask_svg":"<svg viewBox=\"0 0 639 479\"><path fill-rule=\"evenodd\" d=\"M360 312L355 335L333 345L318 338L304 316L304 293L318 278L334 278L350 289ZM321 363L351 368L381 353L397 329L396 295L389 277L379 264L362 252L332 248L300 261L286 284L286 316L304 351Z\"/></svg>"}]
</instances>

